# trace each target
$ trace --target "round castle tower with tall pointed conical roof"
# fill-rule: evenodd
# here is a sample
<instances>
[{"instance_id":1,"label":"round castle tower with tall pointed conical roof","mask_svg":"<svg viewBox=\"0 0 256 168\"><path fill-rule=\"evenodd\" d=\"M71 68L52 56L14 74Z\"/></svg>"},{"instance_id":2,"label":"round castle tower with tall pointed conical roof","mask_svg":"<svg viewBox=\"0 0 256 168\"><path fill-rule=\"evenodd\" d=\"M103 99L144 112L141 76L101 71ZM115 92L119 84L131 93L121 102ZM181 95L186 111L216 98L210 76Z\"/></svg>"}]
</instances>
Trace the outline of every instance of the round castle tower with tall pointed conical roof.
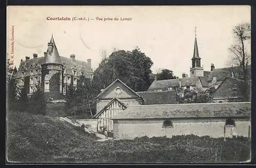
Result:
<instances>
[{"instance_id":1,"label":"round castle tower with tall pointed conical roof","mask_svg":"<svg viewBox=\"0 0 256 168\"><path fill-rule=\"evenodd\" d=\"M62 69L63 64L52 35L41 64L41 88L48 98L62 98Z\"/></svg>"}]
</instances>

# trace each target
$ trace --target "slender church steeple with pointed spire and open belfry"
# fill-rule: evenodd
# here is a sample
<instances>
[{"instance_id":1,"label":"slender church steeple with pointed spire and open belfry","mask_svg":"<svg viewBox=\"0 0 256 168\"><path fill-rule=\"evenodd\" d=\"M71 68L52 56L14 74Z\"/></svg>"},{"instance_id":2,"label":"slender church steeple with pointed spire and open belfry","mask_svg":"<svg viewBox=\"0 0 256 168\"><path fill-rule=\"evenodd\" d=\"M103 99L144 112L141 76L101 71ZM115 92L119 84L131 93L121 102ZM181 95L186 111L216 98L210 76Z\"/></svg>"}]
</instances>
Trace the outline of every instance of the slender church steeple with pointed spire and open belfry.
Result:
<instances>
[{"instance_id":1,"label":"slender church steeple with pointed spire and open belfry","mask_svg":"<svg viewBox=\"0 0 256 168\"><path fill-rule=\"evenodd\" d=\"M190 68L190 77L203 77L204 69L203 67L201 67L201 58L199 57L199 53L198 53L196 28L195 28L194 55L191 60L192 60L192 67Z\"/></svg>"}]
</instances>

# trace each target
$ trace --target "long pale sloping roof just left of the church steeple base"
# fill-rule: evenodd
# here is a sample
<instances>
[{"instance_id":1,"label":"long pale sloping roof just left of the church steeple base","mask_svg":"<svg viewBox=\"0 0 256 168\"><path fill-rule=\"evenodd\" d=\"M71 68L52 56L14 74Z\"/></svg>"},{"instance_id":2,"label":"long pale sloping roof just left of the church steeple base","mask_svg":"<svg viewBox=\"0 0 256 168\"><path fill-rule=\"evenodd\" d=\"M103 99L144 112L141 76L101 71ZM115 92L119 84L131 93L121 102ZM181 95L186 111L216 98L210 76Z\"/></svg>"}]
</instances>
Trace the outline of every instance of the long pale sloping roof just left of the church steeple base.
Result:
<instances>
[{"instance_id":1,"label":"long pale sloping roof just left of the church steeple base","mask_svg":"<svg viewBox=\"0 0 256 168\"><path fill-rule=\"evenodd\" d=\"M162 89L163 91L167 90L168 87L179 87L181 81L181 87L183 86L195 86L197 81L199 80L198 77L193 78L180 78L180 79L168 79L168 80L160 80L160 81L153 81L151 86L147 89L147 91L155 91Z\"/></svg>"}]
</instances>

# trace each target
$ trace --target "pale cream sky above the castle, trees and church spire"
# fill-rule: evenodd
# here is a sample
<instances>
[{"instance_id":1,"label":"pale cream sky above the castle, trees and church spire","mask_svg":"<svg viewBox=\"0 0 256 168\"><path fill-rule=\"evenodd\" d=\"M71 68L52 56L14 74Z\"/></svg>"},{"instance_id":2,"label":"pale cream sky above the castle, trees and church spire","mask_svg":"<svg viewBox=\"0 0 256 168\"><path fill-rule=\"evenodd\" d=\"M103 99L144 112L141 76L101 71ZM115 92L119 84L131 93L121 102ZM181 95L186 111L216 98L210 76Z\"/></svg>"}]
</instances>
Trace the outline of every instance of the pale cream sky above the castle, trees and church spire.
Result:
<instances>
[{"instance_id":1,"label":"pale cream sky above the castle, trees and church spire","mask_svg":"<svg viewBox=\"0 0 256 168\"><path fill-rule=\"evenodd\" d=\"M132 51L138 46L153 61L153 73L165 68L181 77L189 75L195 27L204 70L210 70L211 63L227 67L228 47L235 42L232 28L250 23L250 12L250 6L8 6L7 51L10 54L13 31L13 61L18 67L26 56L43 56L53 34L60 56L90 58L96 69L103 50L110 55L114 49ZM56 17L71 20L47 19Z\"/></svg>"}]
</instances>

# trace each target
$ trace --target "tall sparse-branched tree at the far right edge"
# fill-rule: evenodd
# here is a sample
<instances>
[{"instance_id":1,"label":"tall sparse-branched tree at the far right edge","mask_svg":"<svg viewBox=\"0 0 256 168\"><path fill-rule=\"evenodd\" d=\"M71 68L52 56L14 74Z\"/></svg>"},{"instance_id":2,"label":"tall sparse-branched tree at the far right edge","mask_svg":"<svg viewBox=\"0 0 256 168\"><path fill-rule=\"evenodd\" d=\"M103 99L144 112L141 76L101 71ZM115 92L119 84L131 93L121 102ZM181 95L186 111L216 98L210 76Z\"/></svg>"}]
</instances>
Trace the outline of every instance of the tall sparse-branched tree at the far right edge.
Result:
<instances>
[{"instance_id":1,"label":"tall sparse-branched tree at the far right edge","mask_svg":"<svg viewBox=\"0 0 256 168\"><path fill-rule=\"evenodd\" d=\"M233 29L236 44L229 47L232 53L231 63L234 67L230 68L232 77L239 81L237 86L242 95L242 101L250 100L250 61L251 56L249 50L246 48L246 42L250 43L251 26L249 23L240 24Z\"/></svg>"}]
</instances>

